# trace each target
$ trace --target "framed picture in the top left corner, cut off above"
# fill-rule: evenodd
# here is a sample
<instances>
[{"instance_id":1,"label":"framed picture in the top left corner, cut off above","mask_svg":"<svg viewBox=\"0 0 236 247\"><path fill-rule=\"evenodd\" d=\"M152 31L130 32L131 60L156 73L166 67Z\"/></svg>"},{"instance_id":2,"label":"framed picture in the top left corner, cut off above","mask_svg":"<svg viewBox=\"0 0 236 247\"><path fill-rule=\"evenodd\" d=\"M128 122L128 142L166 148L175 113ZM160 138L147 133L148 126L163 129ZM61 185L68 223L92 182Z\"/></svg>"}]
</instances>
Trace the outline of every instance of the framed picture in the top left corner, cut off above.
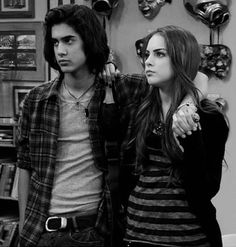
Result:
<instances>
[{"instance_id":1,"label":"framed picture in the top left corner, cut off above","mask_svg":"<svg viewBox=\"0 0 236 247\"><path fill-rule=\"evenodd\" d=\"M0 0L0 18L34 18L35 0Z\"/></svg>"}]
</instances>

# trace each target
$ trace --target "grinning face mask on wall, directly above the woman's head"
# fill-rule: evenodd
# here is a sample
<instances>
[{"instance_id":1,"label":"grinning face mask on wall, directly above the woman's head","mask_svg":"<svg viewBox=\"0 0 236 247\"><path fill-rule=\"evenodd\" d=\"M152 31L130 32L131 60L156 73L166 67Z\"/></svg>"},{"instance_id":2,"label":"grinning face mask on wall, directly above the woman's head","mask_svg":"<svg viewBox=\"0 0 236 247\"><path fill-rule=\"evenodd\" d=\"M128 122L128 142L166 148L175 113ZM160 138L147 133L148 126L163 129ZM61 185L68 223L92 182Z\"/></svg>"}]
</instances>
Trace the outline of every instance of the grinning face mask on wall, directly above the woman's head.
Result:
<instances>
[{"instance_id":1,"label":"grinning face mask on wall, directly above the woman's head","mask_svg":"<svg viewBox=\"0 0 236 247\"><path fill-rule=\"evenodd\" d=\"M147 19L153 19L165 3L171 3L172 0L138 0L138 7L143 16Z\"/></svg>"}]
</instances>

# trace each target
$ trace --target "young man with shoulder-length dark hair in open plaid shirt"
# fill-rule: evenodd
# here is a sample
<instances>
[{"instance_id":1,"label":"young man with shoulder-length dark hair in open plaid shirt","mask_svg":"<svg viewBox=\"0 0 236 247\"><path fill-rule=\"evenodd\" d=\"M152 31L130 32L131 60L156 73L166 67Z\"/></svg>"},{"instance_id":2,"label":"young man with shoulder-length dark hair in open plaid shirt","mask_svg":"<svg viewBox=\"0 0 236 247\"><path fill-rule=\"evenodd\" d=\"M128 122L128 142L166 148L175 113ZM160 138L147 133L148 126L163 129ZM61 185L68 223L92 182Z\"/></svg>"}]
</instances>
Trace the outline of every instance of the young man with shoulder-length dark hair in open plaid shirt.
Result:
<instances>
[{"instance_id":1,"label":"young man with shoulder-length dark hair in open plaid shirt","mask_svg":"<svg viewBox=\"0 0 236 247\"><path fill-rule=\"evenodd\" d=\"M109 47L94 12L45 17L44 55L59 77L24 101L18 135L20 246L110 246L111 193L100 121Z\"/></svg>"}]
</instances>

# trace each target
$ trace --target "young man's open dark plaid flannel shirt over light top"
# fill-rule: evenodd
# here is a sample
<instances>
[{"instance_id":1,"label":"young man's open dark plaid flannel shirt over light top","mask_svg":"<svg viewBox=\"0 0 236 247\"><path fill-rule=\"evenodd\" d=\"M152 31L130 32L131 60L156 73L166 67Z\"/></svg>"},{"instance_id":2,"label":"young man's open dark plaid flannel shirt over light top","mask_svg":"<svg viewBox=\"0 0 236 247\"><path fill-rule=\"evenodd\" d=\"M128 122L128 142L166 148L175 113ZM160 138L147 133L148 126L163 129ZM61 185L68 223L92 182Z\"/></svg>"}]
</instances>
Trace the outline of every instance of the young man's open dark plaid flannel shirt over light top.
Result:
<instances>
[{"instance_id":1,"label":"young man's open dark plaid flannel shirt over light top","mask_svg":"<svg viewBox=\"0 0 236 247\"><path fill-rule=\"evenodd\" d=\"M57 153L59 130L59 79L44 83L29 92L18 128L18 166L31 172L30 191L25 212L21 246L36 246L48 217ZM100 108L104 99L104 84L96 81L89 105L89 134L94 163L104 173L104 190L98 209L96 227L112 231L111 193L105 159L104 138L99 127Z\"/></svg>"}]
</instances>

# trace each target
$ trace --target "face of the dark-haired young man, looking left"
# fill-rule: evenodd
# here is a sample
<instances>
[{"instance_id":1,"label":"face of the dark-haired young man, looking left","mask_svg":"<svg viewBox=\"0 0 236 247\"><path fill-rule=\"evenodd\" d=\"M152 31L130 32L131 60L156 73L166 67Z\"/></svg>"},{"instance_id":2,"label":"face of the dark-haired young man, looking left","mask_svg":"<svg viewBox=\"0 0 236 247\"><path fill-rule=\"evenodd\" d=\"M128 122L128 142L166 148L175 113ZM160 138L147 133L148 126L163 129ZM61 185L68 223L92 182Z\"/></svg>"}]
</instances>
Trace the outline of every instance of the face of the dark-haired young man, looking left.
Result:
<instances>
[{"instance_id":1,"label":"face of the dark-haired young man, looking left","mask_svg":"<svg viewBox=\"0 0 236 247\"><path fill-rule=\"evenodd\" d=\"M88 69L83 41L72 27L65 23L54 25L52 41L55 57L62 72L76 73Z\"/></svg>"}]
</instances>

